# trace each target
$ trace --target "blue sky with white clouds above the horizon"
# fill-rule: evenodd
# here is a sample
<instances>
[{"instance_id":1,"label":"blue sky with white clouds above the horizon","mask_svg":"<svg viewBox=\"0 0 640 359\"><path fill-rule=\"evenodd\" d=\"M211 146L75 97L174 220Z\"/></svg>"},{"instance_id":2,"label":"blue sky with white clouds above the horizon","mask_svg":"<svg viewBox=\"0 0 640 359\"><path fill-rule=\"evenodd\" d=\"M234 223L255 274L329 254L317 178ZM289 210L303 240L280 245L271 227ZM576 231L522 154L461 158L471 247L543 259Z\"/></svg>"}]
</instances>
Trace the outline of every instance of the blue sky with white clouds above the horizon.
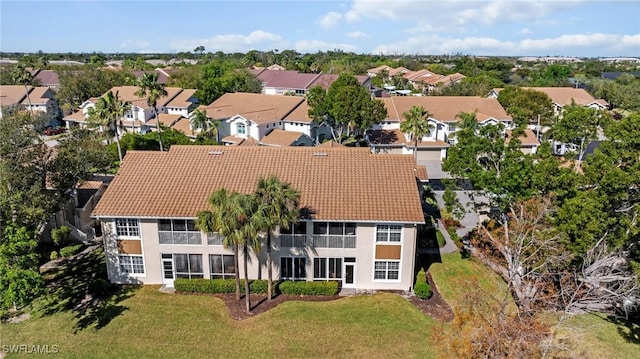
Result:
<instances>
[{"instance_id":1,"label":"blue sky with white clouds above the horizon","mask_svg":"<svg viewBox=\"0 0 640 359\"><path fill-rule=\"evenodd\" d=\"M6 1L0 51L640 57L640 1Z\"/></svg>"}]
</instances>

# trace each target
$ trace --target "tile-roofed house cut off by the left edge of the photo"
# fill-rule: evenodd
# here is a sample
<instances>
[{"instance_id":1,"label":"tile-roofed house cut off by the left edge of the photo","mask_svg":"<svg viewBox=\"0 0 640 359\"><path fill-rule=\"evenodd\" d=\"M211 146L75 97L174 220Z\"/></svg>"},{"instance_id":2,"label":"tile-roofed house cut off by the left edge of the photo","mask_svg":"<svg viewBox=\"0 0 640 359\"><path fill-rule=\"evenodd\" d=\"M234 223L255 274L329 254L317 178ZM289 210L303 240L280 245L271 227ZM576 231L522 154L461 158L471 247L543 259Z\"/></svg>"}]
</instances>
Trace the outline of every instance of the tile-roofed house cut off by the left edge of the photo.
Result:
<instances>
[{"instance_id":1,"label":"tile-roofed house cut off by the left edge of the photo","mask_svg":"<svg viewBox=\"0 0 640 359\"><path fill-rule=\"evenodd\" d=\"M0 118L2 107L17 107L57 117L60 108L54 96L53 91L44 86L27 86L25 89L22 85L0 85Z\"/></svg>"}]
</instances>

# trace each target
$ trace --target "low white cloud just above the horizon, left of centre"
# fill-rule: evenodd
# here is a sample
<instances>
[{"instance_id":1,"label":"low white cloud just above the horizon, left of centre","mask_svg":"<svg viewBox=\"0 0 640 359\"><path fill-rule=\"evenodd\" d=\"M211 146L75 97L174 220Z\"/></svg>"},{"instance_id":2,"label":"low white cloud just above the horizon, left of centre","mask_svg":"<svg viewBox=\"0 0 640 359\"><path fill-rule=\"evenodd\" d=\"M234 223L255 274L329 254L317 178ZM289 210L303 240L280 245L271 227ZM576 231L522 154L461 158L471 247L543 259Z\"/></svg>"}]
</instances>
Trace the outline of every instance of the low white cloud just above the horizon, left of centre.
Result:
<instances>
[{"instance_id":1,"label":"low white cloud just above the horizon, left of centre","mask_svg":"<svg viewBox=\"0 0 640 359\"><path fill-rule=\"evenodd\" d=\"M259 49L280 49L289 45L282 36L263 30L249 34L214 35L207 39L183 39L170 41L170 46L177 51L193 51L197 46L204 46L207 51L247 52Z\"/></svg>"}]
</instances>

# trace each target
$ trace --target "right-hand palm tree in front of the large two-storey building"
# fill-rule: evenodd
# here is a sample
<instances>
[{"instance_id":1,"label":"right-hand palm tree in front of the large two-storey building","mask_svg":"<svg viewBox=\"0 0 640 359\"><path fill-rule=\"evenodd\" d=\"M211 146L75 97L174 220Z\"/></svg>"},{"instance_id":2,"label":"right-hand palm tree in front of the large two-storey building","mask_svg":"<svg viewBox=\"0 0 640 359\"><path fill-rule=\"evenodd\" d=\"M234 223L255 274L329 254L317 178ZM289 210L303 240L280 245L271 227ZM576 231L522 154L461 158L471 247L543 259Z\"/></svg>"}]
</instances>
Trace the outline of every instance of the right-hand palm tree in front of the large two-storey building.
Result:
<instances>
[{"instance_id":1,"label":"right-hand palm tree in front of the large two-storey building","mask_svg":"<svg viewBox=\"0 0 640 359\"><path fill-rule=\"evenodd\" d=\"M300 191L289 183L281 182L276 176L258 179L256 197L259 204L261 229L267 232L267 273L268 299L271 300L273 288L273 260L271 257L271 234L280 228L289 227L298 221Z\"/></svg>"}]
</instances>

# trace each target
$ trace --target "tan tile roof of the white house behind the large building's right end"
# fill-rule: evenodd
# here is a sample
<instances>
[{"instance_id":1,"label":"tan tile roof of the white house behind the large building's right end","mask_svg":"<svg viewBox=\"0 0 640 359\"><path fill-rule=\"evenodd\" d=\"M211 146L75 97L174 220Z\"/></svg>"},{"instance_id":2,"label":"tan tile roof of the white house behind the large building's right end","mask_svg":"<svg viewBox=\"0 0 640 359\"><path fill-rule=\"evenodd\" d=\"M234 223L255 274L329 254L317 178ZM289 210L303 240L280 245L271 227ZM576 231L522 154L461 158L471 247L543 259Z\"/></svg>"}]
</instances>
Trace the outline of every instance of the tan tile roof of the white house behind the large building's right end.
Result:
<instances>
[{"instance_id":1,"label":"tan tile roof of the white house behind the large building's right end","mask_svg":"<svg viewBox=\"0 0 640 359\"><path fill-rule=\"evenodd\" d=\"M380 99L387 108L388 120L403 121L402 114L413 106L422 106L431 118L441 122L457 122L460 112L478 112L478 120L495 118L511 121L512 118L495 98L477 96L392 96Z\"/></svg>"}]
</instances>

